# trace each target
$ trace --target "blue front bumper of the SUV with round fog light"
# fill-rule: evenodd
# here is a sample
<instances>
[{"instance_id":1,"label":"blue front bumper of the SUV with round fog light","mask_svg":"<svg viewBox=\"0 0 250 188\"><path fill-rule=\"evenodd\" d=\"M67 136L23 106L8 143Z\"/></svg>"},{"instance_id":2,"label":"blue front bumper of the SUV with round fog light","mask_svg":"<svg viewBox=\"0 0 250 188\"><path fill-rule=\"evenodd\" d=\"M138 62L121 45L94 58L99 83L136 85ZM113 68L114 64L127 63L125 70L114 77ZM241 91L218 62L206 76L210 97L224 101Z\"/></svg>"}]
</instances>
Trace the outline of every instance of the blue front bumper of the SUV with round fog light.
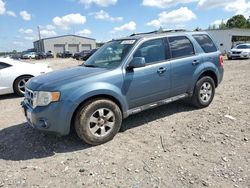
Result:
<instances>
[{"instance_id":1,"label":"blue front bumper of the SUV with round fog light","mask_svg":"<svg viewBox=\"0 0 250 188\"><path fill-rule=\"evenodd\" d=\"M61 136L69 134L71 117L65 114L62 102L32 108L23 101L21 106L28 124L33 128Z\"/></svg>"}]
</instances>

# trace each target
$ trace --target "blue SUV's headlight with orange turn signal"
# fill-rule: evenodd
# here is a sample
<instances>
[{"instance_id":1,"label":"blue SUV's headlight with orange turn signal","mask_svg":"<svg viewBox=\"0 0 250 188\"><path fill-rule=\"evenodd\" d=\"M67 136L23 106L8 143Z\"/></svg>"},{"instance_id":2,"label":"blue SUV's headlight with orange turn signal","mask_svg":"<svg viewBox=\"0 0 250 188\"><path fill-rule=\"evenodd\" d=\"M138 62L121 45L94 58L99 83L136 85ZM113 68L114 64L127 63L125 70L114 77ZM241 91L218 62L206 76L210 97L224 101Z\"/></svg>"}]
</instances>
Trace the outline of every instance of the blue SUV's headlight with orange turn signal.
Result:
<instances>
[{"instance_id":1,"label":"blue SUV's headlight with orange turn signal","mask_svg":"<svg viewBox=\"0 0 250 188\"><path fill-rule=\"evenodd\" d=\"M60 92L35 91L33 94L33 106L47 106L51 102L59 101Z\"/></svg>"}]
</instances>

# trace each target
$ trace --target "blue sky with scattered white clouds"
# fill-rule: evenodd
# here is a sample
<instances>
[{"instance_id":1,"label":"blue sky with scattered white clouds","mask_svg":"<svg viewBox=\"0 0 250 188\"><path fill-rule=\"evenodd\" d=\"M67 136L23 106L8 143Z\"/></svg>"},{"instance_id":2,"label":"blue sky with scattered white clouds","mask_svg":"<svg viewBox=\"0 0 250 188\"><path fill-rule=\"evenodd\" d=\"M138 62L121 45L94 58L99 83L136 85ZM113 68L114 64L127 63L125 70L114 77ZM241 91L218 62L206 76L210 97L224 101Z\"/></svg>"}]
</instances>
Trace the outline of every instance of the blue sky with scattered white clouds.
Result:
<instances>
[{"instance_id":1,"label":"blue sky with scattered white clouds","mask_svg":"<svg viewBox=\"0 0 250 188\"><path fill-rule=\"evenodd\" d=\"M207 29L235 14L250 16L248 0L0 0L0 51L22 51L41 37L76 34L108 41L136 32Z\"/></svg>"}]
</instances>

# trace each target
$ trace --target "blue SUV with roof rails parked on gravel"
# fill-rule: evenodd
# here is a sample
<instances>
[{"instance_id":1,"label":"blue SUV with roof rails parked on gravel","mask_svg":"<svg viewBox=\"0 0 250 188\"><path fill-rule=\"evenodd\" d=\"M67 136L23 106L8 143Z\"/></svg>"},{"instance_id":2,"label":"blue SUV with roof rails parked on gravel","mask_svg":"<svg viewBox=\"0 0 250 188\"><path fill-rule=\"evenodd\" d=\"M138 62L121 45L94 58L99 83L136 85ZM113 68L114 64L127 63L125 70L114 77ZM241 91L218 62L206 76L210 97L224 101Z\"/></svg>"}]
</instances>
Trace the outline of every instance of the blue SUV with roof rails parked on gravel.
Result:
<instances>
[{"instance_id":1,"label":"blue SUV with roof rails parked on gravel","mask_svg":"<svg viewBox=\"0 0 250 188\"><path fill-rule=\"evenodd\" d=\"M205 32L138 34L112 40L84 64L32 78L22 102L28 123L88 144L111 140L122 120L179 99L210 105L223 57Z\"/></svg>"}]
</instances>

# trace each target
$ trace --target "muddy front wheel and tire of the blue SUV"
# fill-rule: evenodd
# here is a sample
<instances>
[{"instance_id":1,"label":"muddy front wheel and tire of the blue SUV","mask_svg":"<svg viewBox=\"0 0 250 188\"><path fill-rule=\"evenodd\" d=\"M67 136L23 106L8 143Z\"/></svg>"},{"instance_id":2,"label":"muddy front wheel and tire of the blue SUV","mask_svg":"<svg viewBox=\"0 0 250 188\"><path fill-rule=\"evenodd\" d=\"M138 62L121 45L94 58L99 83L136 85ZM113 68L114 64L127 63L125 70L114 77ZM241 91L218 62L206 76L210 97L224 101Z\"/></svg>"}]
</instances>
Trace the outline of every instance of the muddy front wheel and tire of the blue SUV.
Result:
<instances>
[{"instance_id":1,"label":"muddy front wheel and tire of the blue SUV","mask_svg":"<svg viewBox=\"0 0 250 188\"><path fill-rule=\"evenodd\" d=\"M90 145L99 145L114 138L120 130L120 108L107 99L95 99L85 103L75 117L77 135Z\"/></svg>"}]
</instances>

